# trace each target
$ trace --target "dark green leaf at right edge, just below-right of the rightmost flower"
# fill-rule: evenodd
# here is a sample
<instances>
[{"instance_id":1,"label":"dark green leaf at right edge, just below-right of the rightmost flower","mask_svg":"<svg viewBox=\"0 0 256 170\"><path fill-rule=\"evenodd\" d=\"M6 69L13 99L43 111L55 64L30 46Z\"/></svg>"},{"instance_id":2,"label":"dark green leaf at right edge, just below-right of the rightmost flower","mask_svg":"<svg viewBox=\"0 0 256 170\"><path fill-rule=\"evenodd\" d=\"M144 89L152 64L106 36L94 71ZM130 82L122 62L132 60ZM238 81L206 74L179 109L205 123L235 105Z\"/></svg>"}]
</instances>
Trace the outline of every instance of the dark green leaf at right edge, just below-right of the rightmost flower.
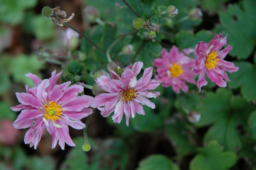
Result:
<instances>
[{"instance_id":1,"label":"dark green leaf at right edge, just below-right of the rightmost flower","mask_svg":"<svg viewBox=\"0 0 256 170\"><path fill-rule=\"evenodd\" d=\"M231 81L228 81L228 87L237 89L241 87L241 94L249 101L256 100L256 65L249 62L234 62L239 67L236 73L228 73Z\"/></svg>"}]
</instances>

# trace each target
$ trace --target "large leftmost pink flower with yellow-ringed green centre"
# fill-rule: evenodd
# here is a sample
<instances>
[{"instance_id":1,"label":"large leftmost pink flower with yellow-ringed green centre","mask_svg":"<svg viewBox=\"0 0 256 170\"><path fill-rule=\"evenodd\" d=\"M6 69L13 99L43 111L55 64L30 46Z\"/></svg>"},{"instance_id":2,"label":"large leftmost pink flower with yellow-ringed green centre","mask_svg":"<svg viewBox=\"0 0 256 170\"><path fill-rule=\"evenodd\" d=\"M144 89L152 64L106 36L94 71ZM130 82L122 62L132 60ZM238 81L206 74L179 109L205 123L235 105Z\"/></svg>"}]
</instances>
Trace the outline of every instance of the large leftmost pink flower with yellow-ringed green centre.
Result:
<instances>
[{"instance_id":1,"label":"large leftmost pink flower with yellow-ringed green centre","mask_svg":"<svg viewBox=\"0 0 256 170\"><path fill-rule=\"evenodd\" d=\"M16 93L21 103L11 107L13 111L20 111L18 118L13 122L16 129L29 128L24 142L34 145L36 149L44 128L52 135L52 148L55 148L58 140L61 149L64 150L65 142L69 146L76 146L72 141L68 125L75 129L85 128L82 118L92 114L90 106L93 97L77 96L84 88L80 85L68 87L71 82L57 84L62 72L52 72L49 79L41 80L35 74L28 73L35 87L26 85L27 93Z\"/></svg>"}]
</instances>

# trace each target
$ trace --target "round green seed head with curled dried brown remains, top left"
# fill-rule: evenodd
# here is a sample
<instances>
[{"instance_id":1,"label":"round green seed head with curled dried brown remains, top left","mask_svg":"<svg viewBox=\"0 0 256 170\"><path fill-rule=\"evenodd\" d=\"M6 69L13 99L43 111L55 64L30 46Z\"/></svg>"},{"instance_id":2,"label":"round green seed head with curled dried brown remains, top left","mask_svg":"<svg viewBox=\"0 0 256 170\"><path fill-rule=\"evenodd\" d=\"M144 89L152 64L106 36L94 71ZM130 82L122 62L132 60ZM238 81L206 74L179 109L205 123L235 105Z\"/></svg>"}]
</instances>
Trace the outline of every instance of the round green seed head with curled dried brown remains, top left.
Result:
<instances>
[{"instance_id":1,"label":"round green seed head with curled dried brown remains, top left","mask_svg":"<svg viewBox=\"0 0 256 170\"><path fill-rule=\"evenodd\" d=\"M61 27L63 26L63 23L69 22L75 16L75 13L72 13L68 19L60 19L59 17L57 17L57 15L60 15L61 17L65 18L67 14L65 11L61 11L59 6L56 6L55 8L45 6L42 9L42 14L45 18L50 18L54 24L57 24Z\"/></svg>"}]
</instances>

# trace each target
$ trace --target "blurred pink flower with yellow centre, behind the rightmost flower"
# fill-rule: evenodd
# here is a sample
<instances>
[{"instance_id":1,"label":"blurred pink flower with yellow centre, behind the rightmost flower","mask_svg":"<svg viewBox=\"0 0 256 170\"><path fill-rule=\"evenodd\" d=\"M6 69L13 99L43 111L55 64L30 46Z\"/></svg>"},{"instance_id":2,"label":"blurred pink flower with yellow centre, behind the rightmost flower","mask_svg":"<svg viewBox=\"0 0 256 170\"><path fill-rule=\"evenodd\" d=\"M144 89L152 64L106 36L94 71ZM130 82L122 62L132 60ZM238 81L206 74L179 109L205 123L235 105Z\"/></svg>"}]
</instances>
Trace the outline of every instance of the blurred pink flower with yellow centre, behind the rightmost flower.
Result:
<instances>
[{"instance_id":1,"label":"blurred pink flower with yellow centre, behind the rightmost flower","mask_svg":"<svg viewBox=\"0 0 256 170\"><path fill-rule=\"evenodd\" d=\"M190 54L193 49L183 50L185 54ZM164 87L172 86L173 91L180 93L180 89L188 92L187 83L196 84L193 74L190 74L195 59L187 57L183 52L179 52L176 46L172 46L170 53L163 48L159 58L154 59L154 66L157 74L155 76Z\"/></svg>"}]
</instances>

